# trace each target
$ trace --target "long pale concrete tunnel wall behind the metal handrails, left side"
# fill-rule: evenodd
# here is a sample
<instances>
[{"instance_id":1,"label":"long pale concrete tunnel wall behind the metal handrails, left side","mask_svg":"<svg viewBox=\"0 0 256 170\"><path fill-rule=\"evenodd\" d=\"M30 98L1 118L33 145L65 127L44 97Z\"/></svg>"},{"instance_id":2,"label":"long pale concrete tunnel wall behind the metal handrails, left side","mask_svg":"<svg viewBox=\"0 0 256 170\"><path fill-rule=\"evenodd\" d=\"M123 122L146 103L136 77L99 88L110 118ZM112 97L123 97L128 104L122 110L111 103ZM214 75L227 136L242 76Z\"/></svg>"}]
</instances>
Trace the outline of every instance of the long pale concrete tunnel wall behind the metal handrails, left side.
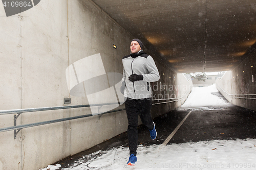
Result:
<instances>
[{"instance_id":1,"label":"long pale concrete tunnel wall behind the metal handrails, left side","mask_svg":"<svg viewBox=\"0 0 256 170\"><path fill-rule=\"evenodd\" d=\"M3 6L0 6L0 15L5 16ZM130 53L129 44L134 38L90 0L41 1L28 11L1 17L0 25L1 110L88 104L86 97L69 94L66 68L100 53L105 71L121 74L121 59ZM152 85L157 84L157 89L153 95L183 96L187 92L184 85L188 87L191 82L166 66L157 53L146 48L145 51L155 59L161 75L158 83L173 86L163 89L155 82ZM177 108L186 96L177 102L154 105L153 116ZM71 98L72 104L63 104L64 98ZM90 108L23 113L17 125L90 113ZM13 126L13 114L0 116L0 128ZM2 132L0 170L46 167L126 129L126 113L120 111L104 114L100 119L92 116L26 128L16 139L13 131Z\"/></svg>"}]
</instances>

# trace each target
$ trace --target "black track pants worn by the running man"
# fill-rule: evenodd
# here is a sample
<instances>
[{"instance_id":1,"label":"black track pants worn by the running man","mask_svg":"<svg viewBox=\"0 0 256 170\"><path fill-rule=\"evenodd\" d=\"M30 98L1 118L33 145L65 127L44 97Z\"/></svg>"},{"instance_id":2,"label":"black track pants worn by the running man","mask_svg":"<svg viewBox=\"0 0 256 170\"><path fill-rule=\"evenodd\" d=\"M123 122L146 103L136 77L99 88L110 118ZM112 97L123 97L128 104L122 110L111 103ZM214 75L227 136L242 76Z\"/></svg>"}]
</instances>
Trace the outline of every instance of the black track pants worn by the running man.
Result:
<instances>
[{"instance_id":1,"label":"black track pants worn by the running man","mask_svg":"<svg viewBox=\"0 0 256 170\"><path fill-rule=\"evenodd\" d=\"M148 128L154 129L154 124L151 118L150 109L152 106L152 99L130 99L125 101L125 109L128 118L127 135L129 140L130 155L137 154L138 145L138 115L140 115L141 122Z\"/></svg>"}]
</instances>

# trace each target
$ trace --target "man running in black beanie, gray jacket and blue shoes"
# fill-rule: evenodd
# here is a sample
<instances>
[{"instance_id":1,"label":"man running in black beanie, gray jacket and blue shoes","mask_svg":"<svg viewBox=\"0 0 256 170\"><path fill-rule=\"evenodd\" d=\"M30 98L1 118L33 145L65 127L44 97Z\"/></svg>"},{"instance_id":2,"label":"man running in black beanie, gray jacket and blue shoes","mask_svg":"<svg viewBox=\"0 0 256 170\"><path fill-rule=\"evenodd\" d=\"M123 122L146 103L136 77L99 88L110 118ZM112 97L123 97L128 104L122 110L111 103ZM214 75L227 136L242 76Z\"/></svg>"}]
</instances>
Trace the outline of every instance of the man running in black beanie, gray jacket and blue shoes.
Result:
<instances>
[{"instance_id":1,"label":"man running in black beanie, gray jacket and blue shoes","mask_svg":"<svg viewBox=\"0 0 256 170\"><path fill-rule=\"evenodd\" d=\"M134 165L137 161L138 145L138 115L142 123L150 131L153 140L157 137L155 124L151 117L152 90L150 82L156 82L160 79L155 61L150 55L142 50L143 44L139 39L131 41L131 54L124 56L123 78L121 93L124 94L125 109L128 118L128 139L130 157L128 165Z\"/></svg>"}]
</instances>

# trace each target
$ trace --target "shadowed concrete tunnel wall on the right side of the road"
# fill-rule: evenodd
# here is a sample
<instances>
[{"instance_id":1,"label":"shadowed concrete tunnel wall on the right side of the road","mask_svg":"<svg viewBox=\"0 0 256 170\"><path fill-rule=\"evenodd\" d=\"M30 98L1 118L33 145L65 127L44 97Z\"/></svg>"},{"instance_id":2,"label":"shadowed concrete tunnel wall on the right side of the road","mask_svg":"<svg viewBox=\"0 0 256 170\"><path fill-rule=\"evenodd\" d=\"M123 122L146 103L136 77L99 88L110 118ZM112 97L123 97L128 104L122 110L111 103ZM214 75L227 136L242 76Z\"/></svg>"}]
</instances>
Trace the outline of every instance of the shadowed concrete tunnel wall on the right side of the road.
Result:
<instances>
[{"instance_id":1,"label":"shadowed concrete tunnel wall on the right side of the road","mask_svg":"<svg viewBox=\"0 0 256 170\"><path fill-rule=\"evenodd\" d=\"M256 111L255 57L256 51L254 50L254 52L246 57L236 68L226 71L221 79L217 79L216 87L231 104Z\"/></svg>"}]
</instances>

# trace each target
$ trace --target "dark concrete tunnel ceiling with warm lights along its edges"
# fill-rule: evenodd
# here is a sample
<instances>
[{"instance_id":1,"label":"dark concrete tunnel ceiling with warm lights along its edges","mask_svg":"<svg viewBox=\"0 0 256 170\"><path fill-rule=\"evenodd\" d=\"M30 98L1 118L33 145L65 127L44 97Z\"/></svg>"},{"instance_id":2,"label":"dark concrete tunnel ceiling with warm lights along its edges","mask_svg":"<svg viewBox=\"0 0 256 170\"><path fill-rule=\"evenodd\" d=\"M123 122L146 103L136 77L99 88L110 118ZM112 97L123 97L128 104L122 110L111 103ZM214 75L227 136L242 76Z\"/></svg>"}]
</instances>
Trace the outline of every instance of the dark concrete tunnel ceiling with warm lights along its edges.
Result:
<instances>
[{"instance_id":1,"label":"dark concrete tunnel ceiling with warm lights along its edges","mask_svg":"<svg viewBox=\"0 0 256 170\"><path fill-rule=\"evenodd\" d=\"M256 0L93 2L176 72L232 70L255 50Z\"/></svg>"}]
</instances>

